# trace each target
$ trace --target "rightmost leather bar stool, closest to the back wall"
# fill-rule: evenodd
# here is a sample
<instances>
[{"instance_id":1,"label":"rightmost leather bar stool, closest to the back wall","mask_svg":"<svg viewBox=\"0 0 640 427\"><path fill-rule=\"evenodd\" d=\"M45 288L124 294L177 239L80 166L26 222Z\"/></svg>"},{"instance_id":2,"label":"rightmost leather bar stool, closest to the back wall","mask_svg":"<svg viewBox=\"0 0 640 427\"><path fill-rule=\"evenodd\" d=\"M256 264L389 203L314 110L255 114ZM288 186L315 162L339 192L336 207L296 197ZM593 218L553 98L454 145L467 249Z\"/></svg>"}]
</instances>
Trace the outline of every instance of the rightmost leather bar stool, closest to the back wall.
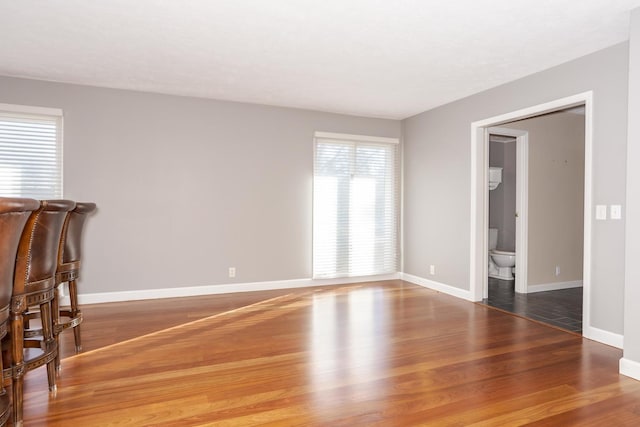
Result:
<instances>
[{"instance_id":1,"label":"rightmost leather bar stool, closest to the back wall","mask_svg":"<svg viewBox=\"0 0 640 427\"><path fill-rule=\"evenodd\" d=\"M80 263L82 260L82 231L87 216L95 211L96 204L89 202L78 202L74 210L67 214L62 228L60 238L60 248L58 250L58 270L56 273L56 286L69 284L69 300L71 307L62 309L59 307L58 292L54 294L54 332L56 339L65 329L72 328L76 344L76 353L82 350L82 340L80 336L80 324L82 323L82 311L78 306L78 288L76 281L80 274ZM57 315L56 315L57 314ZM60 368L60 356L56 358L56 367Z\"/></svg>"}]
</instances>

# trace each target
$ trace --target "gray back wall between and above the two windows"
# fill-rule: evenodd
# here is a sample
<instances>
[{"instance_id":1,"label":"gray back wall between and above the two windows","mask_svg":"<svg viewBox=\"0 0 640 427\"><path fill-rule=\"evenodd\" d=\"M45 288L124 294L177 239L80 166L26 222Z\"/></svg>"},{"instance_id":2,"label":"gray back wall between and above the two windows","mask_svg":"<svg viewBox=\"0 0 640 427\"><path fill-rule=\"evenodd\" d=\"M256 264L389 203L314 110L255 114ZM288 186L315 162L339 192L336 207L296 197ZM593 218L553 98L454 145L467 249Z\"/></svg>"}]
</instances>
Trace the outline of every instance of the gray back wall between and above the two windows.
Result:
<instances>
[{"instance_id":1,"label":"gray back wall between and above the two windows","mask_svg":"<svg viewBox=\"0 0 640 427\"><path fill-rule=\"evenodd\" d=\"M64 111L65 197L99 208L86 294L311 277L313 132L401 132L393 120L4 77L0 102Z\"/></svg>"}]
</instances>

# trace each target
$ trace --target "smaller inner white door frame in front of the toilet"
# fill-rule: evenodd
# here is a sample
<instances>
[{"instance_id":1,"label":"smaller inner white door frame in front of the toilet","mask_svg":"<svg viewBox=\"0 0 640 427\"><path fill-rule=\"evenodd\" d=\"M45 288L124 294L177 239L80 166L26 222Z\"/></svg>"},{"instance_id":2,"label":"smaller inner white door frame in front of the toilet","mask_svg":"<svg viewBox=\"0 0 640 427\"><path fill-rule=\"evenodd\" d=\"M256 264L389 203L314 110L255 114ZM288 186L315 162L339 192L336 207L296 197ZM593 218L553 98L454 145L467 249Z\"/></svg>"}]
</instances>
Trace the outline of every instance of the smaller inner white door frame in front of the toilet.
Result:
<instances>
[{"instance_id":1,"label":"smaller inner white door frame in front of the toilet","mask_svg":"<svg viewBox=\"0 0 640 427\"><path fill-rule=\"evenodd\" d=\"M520 294L527 293L527 262L528 262L528 234L529 234L529 132L519 129L509 129L505 127L492 126L488 128L490 135L504 135L516 138L516 280L515 291ZM486 144L487 150L489 144ZM487 159L489 155L487 154ZM487 165L489 167L489 165ZM489 191L487 186L487 192ZM485 196L489 200L489 195ZM486 204L485 216L489 218L489 203ZM487 230L488 230L487 225ZM487 245L488 246L488 245ZM487 248L488 250L488 248ZM488 257L488 255L487 255ZM487 263L488 264L488 263ZM485 276L483 283L483 298L489 296L487 284L488 277Z\"/></svg>"}]
</instances>

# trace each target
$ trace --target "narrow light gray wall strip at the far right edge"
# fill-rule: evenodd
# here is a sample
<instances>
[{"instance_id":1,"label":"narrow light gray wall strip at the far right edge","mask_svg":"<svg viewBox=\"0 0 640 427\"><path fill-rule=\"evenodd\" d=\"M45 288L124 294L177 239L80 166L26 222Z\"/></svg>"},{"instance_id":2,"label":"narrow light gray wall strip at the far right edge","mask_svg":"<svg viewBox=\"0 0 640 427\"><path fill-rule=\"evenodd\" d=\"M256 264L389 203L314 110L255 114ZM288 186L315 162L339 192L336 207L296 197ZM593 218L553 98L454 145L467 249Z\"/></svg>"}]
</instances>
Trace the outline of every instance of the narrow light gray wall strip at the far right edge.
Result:
<instances>
[{"instance_id":1,"label":"narrow light gray wall strip at the far right edge","mask_svg":"<svg viewBox=\"0 0 640 427\"><path fill-rule=\"evenodd\" d=\"M631 14L630 40L624 358L635 362L640 379L640 9Z\"/></svg>"}]
</instances>

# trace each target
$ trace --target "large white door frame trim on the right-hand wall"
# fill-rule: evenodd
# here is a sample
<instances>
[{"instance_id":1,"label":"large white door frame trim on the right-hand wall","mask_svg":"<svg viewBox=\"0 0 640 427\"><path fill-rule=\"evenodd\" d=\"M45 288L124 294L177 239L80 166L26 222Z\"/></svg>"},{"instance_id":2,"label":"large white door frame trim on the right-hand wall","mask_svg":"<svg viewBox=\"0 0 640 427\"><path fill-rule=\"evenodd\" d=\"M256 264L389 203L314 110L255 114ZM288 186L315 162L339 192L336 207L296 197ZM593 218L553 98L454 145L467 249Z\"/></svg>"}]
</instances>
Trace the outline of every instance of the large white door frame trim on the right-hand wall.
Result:
<instances>
[{"instance_id":1,"label":"large white door frame trim on the right-hand wall","mask_svg":"<svg viewBox=\"0 0 640 427\"><path fill-rule=\"evenodd\" d=\"M583 94L575 95L572 97L563 98L557 101L553 101L546 104L541 104L535 107L518 110L512 113L508 113L502 116L492 117L486 120L472 123L472 191L471 191L471 208L472 208L472 223L471 223L471 294L476 301L482 300L488 295L488 228L489 228L489 192L488 192L488 168L489 168L489 134L490 128L493 127L508 127L509 123L530 119L536 116L546 115L560 110L566 110L569 108L584 105L584 173L583 173L583 202L582 202L582 251L581 254L581 270L582 270L582 288L579 290L582 294L582 334L586 337L590 337L590 316L589 316L589 296L590 296L590 257L591 257L591 111L592 111L592 94L586 92ZM520 163L518 164L520 165ZM522 202L522 201L521 201ZM524 201L526 203L526 199ZM521 205L518 205L518 209L521 209ZM518 212L519 219L523 212ZM521 227L527 230L527 227ZM526 242L527 239L525 238ZM520 243L522 243L522 239ZM516 248L516 255L518 252L523 254L519 244ZM526 249L524 251L526 253ZM519 261L519 266L524 267L526 270L528 266L527 258L522 256ZM526 285L527 275L520 271L520 267L516 267L516 277L520 275L525 279L524 286ZM556 270L559 274L559 269ZM556 274L556 275L558 275ZM534 291L546 291L544 287L539 287ZM522 291L523 289L519 289ZM514 295L524 294L528 297L541 297L539 295L532 294L531 286L524 288L525 292L518 292ZM515 291L515 289L514 289ZM575 293L576 290L573 290ZM536 292L538 293L538 292Z\"/></svg>"}]
</instances>

